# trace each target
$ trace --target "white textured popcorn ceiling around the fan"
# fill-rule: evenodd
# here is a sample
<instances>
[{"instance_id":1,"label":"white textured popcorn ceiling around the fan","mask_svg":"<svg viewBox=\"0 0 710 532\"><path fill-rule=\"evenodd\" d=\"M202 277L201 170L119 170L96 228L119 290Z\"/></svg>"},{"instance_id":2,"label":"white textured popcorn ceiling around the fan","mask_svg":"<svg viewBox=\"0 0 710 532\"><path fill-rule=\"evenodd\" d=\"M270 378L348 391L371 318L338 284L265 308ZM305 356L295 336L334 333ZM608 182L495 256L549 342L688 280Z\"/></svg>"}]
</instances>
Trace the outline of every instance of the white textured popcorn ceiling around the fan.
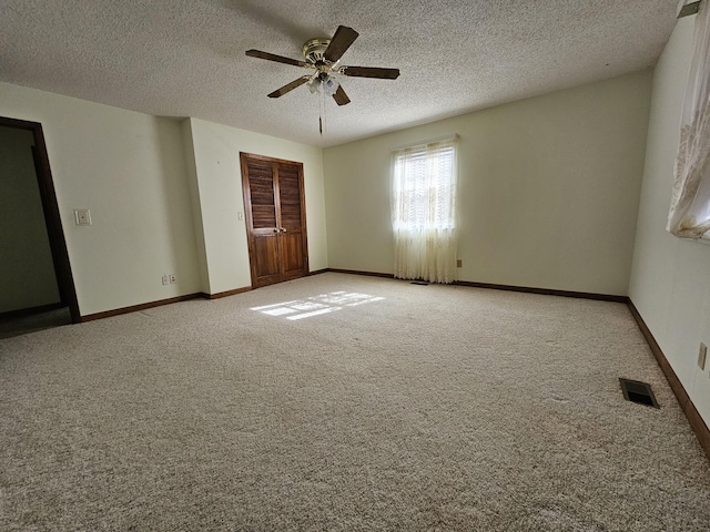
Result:
<instances>
[{"instance_id":1,"label":"white textured popcorn ceiling around the fan","mask_svg":"<svg viewBox=\"0 0 710 532\"><path fill-rule=\"evenodd\" d=\"M1 0L0 81L160 116L195 116L327 146L652 66L677 0ZM341 63L398 68L345 78L325 106L303 59L338 24L359 38Z\"/></svg>"}]
</instances>

